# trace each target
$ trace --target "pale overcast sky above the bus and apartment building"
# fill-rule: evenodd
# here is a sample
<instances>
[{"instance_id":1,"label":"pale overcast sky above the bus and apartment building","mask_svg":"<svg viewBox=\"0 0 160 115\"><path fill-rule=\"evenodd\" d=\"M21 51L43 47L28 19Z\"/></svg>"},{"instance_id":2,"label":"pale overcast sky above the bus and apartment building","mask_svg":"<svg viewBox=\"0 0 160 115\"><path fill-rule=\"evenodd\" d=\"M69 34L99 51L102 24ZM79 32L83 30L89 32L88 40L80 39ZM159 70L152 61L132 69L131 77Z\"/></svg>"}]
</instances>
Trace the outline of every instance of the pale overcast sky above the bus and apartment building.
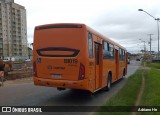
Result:
<instances>
[{"instance_id":1,"label":"pale overcast sky above the bus and apartment building","mask_svg":"<svg viewBox=\"0 0 160 115\"><path fill-rule=\"evenodd\" d=\"M27 10L28 42L33 42L34 27L49 23L84 23L126 47L131 53L158 51L156 21L143 9L160 18L160 0L15 0Z\"/></svg>"}]
</instances>

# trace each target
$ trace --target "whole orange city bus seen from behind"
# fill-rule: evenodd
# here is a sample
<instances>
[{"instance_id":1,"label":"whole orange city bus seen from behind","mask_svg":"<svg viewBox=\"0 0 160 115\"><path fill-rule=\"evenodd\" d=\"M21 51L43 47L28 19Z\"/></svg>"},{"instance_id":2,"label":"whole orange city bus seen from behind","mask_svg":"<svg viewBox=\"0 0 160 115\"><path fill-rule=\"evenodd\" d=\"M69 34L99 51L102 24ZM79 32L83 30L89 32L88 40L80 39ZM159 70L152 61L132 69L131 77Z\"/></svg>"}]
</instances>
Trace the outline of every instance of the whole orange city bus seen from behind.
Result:
<instances>
[{"instance_id":1,"label":"whole orange city bus seen from behind","mask_svg":"<svg viewBox=\"0 0 160 115\"><path fill-rule=\"evenodd\" d=\"M35 85L109 90L127 74L127 51L85 24L59 23L35 27Z\"/></svg>"}]
</instances>

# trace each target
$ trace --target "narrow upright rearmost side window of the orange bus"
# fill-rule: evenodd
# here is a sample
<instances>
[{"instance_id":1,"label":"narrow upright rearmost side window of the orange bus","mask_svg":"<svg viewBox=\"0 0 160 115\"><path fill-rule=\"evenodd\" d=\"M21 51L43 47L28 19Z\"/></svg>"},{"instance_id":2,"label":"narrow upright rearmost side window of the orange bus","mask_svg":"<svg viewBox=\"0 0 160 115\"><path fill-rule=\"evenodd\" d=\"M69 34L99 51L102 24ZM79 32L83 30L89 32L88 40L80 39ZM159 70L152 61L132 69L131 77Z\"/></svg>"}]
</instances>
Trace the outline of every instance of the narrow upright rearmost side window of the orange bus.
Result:
<instances>
[{"instance_id":1,"label":"narrow upright rearmost side window of the orange bus","mask_svg":"<svg viewBox=\"0 0 160 115\"><path fill-rule=\"evenodd\" d=\"M89 51L89 58L93 58L93 40L92 40L92 33L88 33L88 51Z\"/></svg>"}]
</instances>

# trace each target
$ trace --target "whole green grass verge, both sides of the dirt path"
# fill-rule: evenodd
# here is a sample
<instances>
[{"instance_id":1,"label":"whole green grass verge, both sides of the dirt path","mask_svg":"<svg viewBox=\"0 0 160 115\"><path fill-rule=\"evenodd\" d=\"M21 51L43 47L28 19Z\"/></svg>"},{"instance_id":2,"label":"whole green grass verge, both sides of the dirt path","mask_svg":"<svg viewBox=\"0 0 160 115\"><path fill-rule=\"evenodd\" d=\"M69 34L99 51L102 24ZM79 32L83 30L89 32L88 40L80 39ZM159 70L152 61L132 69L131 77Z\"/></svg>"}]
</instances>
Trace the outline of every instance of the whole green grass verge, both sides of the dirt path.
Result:
<instances>
[{"instance_id":1,"label":"whole green grass verge, both sides of the dirt path","mask_svg":"<svg viewBox=\"0 0 160 115\"><path fill-rule=\"evenodd\" d=\"M147 63L148 65L148 63ZM142 72L145 78L144 92L140 100L140 106L160 106L160 70L155 69L151 64L151 69L136 71L128 78L125 86L103 106L134 106L142 83ZM158 65L159 66L159 65ZM158 108L157 108L158 109ZM105 111L105 108L101 108ZM116 111L116 110L115 110ZM128 110L127 110L128 111ZM99 112L98 115L130 115L131 112ZM138 115L159 115L159 112L138 112Z\"/></svg>"}]
</instances>

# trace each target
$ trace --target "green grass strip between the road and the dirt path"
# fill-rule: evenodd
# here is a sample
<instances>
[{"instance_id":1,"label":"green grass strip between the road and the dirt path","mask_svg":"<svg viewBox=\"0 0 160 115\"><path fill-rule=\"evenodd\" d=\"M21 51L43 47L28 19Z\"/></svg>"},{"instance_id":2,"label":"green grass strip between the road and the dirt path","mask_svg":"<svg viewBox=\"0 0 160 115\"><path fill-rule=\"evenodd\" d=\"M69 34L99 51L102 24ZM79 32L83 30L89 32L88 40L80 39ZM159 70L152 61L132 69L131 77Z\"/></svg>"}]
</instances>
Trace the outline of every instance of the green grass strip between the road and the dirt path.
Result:
<instances>
[{"instance_id":1,"label":"green grass strip between the road and the dirt path","mask_svg":"<svg viewBox=\"0 0 160 115\"><path fill-rule=\"evenodd\" d=\"M141 87L142 82L142 71L137 70L131 77L127 79L125 86L112 98L110 98L104 106L133 106L135 104L135 100L139 93L139 89ZM105 111L104 108L101 108L102 111ZM131 111L131 110L130 110ZM124 112L100 112L99 115L105 114L122 114L128 115L129 113Z\"/></svg>"}]
</instances>

